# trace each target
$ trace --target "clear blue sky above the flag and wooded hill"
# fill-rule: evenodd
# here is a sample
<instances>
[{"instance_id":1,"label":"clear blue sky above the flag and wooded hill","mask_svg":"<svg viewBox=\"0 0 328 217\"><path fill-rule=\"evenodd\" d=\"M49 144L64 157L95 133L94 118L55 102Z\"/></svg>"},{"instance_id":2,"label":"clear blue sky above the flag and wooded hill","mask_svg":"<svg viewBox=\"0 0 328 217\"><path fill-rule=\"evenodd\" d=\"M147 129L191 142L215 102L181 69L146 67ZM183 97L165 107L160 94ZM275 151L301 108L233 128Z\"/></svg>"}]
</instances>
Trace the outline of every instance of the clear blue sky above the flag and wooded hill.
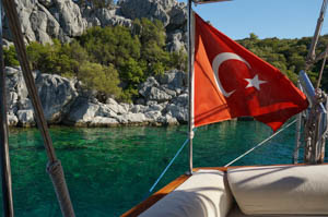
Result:
<instances>
[{"instance_id":1,"label":"clear blue sky above the flag and wooded hill","mask_svg":"<svg viewBox=\"0 0 328 217\"><path fill-rule=\"evenodd\" d=\"M321 4L323 0L233 0L192 8L233 39L249 37L249 33L259 38L302 38L314 35ZM327 14L321 35L328 34Z\"/></svg>"}]
</instances>

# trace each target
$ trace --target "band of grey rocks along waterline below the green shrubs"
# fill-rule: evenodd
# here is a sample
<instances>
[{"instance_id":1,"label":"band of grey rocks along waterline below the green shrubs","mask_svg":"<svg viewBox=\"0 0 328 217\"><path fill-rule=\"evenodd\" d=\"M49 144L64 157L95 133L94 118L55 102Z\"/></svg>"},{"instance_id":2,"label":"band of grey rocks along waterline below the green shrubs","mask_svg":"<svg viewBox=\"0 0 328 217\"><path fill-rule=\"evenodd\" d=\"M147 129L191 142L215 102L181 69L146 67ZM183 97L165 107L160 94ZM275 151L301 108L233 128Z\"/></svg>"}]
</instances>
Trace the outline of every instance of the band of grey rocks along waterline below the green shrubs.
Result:
<instances>
[{"instance_id":1,"label":"band of grey rocks along waterline below the green shrubs","mask_svg":"<svg viewBox=\"0 0 328 217\"><path fill-rule=\"evenodd\" d=\"M12 126L34 126L35 116L20 68L5 68L8 122ZM186 75L169 71L149 77L140 85L142 104L119 104L108 98L99 103L93 93L75 88L79 81L54 74L34 73L44 113L49 124L75 126L172 125L187 121Z\"/></svg>"}]
</instances>

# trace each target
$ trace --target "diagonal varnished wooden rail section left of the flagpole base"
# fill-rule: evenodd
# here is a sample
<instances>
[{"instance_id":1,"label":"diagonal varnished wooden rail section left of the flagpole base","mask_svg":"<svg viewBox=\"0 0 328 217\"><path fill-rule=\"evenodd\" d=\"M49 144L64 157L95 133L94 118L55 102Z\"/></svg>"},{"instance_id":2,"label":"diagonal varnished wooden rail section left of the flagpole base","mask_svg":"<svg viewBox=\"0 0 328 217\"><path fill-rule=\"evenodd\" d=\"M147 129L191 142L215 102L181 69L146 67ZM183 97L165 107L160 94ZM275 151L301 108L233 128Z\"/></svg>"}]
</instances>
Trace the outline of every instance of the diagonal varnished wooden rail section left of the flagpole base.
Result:
<instances>
[{"instance_id":1,"label":"diagonal varnished wooden rail section left of the flagpole base","mask_svg":"<svg viewBox=\"0 0 328 217\"><path fill-rule=\"evenodd\" d=\"M130 210L126 212L121 215L121 217L134 217L147 210L149 207L151 207L153 204L155 204L157 201L166 196L169 192L178 188L181 183L184 183L190 176L183 174L178 177L173 182L168 183L166 186L148 197L145 201L141 202Z\"/></svg>"}]
</instances>

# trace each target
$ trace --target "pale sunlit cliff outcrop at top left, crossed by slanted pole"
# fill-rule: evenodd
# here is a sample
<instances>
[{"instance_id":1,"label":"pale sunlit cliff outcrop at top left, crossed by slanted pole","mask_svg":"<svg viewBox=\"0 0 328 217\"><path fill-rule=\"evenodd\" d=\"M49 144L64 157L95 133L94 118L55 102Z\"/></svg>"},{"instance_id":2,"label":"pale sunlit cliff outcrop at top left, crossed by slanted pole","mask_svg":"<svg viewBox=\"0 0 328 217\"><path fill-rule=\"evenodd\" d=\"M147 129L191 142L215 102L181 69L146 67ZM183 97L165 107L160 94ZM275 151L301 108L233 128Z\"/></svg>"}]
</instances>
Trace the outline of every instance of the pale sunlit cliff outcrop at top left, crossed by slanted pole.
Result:
<instances>
[{"instance_id":1,"label":"pale sunlit cliff outcrop at top left, crossed by slanted pole","mask_svg":"<svg viewBox=\"0 0 328 217\"><path fill-rule=\"evenodd\" d=\"M27 43L46 44L51 43L51 38L68 41L86 29L87 23L72 0L16 0L15 3ZM8 25L3 34L4 38L11 39Z\"/></svg>"}]
</instances>

